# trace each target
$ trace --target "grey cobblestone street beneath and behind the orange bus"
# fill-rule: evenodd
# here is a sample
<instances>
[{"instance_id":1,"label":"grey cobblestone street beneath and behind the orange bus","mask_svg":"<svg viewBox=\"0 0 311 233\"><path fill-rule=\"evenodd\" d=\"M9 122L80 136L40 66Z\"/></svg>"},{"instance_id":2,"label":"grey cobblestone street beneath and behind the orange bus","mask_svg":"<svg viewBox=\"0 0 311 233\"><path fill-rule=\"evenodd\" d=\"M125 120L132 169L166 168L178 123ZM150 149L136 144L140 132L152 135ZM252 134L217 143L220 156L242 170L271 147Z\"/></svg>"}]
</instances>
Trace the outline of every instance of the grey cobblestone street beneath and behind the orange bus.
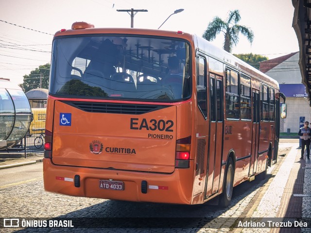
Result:
<instances>
[{"instance_id":1,"label":"grey cobblestone street beneath and behind the orange bus","mask_svg":"<svg viewBox=\"0 0 311 233\"><path fill-rule=\"evenodd\" d=\"M233 221L240 216L248 206L263 182L257 183L243 193L236 196L228 208L220 209L209 205L166 205L155 203L133 203L126 201L101 200L69 197L46 193L43 182L27 183L22 186L7 188L0 191L0 217L208 217L215 218L209 226L219 226L221 221ZM22 194L22 195L21 195ZM232 222L232 223L233 223ZM14 229L1 229L13 232ZM33 232L34 229L25 229L20 232ZM37 232L58 232L64 229L35 229ZM85 232L85 229L74 229ZM94 232L98 229L93 229ZM122 232L121 229L107 229L108 232ZM180 229L155 229L158 232L179 232ZM183 232L219 232L217 229L184 229ZM222 228L222 232L229 229ZM88 232L93 232L88 230ZM106 231L105 231L106 232ZM145 232L142 229L127 229L127 232ZM153 231L154 232L154 231Z\"/></svg>"}]
</instances>

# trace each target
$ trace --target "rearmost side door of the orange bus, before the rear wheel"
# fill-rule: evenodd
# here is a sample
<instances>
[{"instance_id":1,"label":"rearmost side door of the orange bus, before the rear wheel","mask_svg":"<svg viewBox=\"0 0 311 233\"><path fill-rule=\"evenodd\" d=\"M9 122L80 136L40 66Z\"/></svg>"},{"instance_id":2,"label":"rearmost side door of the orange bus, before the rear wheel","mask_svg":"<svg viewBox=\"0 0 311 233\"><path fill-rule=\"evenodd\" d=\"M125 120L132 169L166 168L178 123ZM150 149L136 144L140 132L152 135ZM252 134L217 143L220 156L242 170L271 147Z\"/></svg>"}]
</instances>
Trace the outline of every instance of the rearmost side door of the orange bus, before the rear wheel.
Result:
<instances>
[{"instance_id":1,"label":"rearmost side door of the orange bus, before the rear wheel","mask_svg":"<svg viewBox=\"0 0 311 233\"><path fill-rule=\"evenodd\" d=\"M219 189L222 146L223 146L223 77L209 75L209 142L206 198L214 195Z\"/></svg>"}]
</instances>

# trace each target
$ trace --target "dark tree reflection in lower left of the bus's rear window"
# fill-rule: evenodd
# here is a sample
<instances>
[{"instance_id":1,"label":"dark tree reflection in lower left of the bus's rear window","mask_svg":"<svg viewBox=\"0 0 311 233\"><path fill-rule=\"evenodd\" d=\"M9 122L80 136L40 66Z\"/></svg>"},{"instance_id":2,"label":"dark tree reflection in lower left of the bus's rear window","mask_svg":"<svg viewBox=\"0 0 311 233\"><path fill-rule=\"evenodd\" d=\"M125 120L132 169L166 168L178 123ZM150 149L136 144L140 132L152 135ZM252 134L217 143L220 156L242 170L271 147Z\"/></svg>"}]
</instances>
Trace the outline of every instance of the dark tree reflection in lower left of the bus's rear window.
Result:
<instances>
[{"instance_id":1,"label":"dark tree reflection in lower left of the bus's rear window","mask_svg":"<svg viewBox=\"0 0 311 233\"><path fill-rule=\"evenodd\" d=\"M92 87L80 80L72 79L65 83L57 94L73 95L73 96L96 96L107 97L108 95L99 87Z\"/></svg>"}]
</instances>

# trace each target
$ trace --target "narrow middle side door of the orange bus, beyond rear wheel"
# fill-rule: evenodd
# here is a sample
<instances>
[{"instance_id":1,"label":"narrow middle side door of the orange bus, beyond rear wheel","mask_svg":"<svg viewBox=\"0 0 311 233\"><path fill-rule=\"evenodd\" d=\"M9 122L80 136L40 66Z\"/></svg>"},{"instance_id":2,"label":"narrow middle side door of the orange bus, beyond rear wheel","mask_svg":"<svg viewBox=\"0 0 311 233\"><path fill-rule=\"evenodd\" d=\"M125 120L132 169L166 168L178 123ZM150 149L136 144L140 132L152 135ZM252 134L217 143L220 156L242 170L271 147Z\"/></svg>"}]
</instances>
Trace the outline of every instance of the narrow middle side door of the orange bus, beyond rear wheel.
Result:
<instances>
[{"instance_id":1,"label":"narrow middle side door of the orange bus, beyond rear wheel","mask_svg":"<svg viewBox=\"0 0 311 233\"><path fill-rule=\"evenodd\" d=\"M252 136L252 158L249 168L249 176L252 176L257 170L258 150L259 150L259 90L253 89L253 136Z\"/></svg>"}]
</instances>

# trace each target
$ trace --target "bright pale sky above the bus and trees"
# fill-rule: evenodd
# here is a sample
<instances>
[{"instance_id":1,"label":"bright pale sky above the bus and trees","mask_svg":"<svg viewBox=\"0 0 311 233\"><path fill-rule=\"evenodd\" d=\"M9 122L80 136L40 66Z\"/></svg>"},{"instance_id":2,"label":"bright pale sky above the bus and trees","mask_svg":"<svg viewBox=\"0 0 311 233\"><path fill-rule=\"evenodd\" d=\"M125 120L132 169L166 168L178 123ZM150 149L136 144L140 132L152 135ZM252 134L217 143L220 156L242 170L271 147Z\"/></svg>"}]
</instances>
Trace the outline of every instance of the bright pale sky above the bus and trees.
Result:
<instances>
[{"instance_id":1,"label":"bright pale sky above the bus and trees","mask_svg":"<svg viewBox=\"0 0 311 233\"><path fill-rule=\"evenodd\" d=\"M292 0L0 0L0 78L22 83L23 75L50 63L52 34L70 29L73 22L130 27L129 14L117 9L131 8L148 10L134 17L135 28L147 29L157 29L182 8L161 29L200 36L213 17L225 20L229 11L238 9L240 24L251 28L255 37L250 45L241 35L233 53L252 52L272 59L299 50ZM213 43L222 47L223 40L220 34Z\"/></svg>"}]
</instances>

